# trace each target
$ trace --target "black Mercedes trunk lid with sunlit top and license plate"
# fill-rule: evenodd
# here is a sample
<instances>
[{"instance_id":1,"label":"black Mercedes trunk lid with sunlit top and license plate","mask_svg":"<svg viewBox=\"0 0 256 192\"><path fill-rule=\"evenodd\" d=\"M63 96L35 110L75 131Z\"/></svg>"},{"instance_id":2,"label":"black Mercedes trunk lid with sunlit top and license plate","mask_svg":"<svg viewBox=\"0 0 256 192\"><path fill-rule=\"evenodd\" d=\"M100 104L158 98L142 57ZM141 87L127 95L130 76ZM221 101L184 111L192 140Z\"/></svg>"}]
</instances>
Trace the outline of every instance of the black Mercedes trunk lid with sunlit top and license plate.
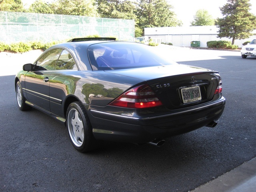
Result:
<instances>
[{"instance_id":1,"label":"black Mercedes trunk lid with sunlit top and license plate","mask_svg":"<svg viewBox=\"0 0 256 192\"><path fill-rule=\"evenodd\" d=\"M146 81L169 109L212 100L218 86L218 72L186 65L133 68L108 71Z\"/></svg>"}]
</instances>

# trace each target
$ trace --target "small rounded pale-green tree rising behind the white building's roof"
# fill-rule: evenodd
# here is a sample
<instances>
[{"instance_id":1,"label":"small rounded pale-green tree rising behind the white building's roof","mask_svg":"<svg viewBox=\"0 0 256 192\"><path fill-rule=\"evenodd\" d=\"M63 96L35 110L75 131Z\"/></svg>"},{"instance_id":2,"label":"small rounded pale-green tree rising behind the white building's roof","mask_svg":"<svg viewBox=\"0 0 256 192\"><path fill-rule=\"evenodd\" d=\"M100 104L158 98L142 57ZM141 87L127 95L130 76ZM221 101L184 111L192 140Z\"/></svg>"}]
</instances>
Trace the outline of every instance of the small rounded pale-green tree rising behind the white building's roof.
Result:
<instances>
[{"instance_id":1,"label":"small rounded pale-green tree rising behind the white building's roof","mask_svg":"<svg viewBox=\"0 0 256 192\"><path fill-rule=\"evenodd\" d=\"M191 26L210 26L215 25L215 21L207 10L200 9L194 15L194 21L190 22Z\"/></svg>"}]
</instances>

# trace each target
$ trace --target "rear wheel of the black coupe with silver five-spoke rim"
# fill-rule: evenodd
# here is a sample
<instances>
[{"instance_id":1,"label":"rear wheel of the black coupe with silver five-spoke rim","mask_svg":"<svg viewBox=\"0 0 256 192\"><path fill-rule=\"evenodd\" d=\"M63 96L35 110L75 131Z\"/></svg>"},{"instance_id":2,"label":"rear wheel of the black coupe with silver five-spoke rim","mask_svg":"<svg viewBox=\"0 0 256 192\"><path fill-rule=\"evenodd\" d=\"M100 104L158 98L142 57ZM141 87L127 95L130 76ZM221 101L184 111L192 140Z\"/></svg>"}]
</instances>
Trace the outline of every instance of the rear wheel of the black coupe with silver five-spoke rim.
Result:
<instances>
[{"instance_id":1,"label":"rear wheel of the black coupe with silver five-spoke rim","mask_svg":"<svg viewBox=\"0 0 256 192\"><path fill-rule=\"evenodd\" d=\"M68 106L66 127L72 145L79 152L88 152L98 147L89 118L80 102L73 102Z\"/></svg>"}]
</instances>

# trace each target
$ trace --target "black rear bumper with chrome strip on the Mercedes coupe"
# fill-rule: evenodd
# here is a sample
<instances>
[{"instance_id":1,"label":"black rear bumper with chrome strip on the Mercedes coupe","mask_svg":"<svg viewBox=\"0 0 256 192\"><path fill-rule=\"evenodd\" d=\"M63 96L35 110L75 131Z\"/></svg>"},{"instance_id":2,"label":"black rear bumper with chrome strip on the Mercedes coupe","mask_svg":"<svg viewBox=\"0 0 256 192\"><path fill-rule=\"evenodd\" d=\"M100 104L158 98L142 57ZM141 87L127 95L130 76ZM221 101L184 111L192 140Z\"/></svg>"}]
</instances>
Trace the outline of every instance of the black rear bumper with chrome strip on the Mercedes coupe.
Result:
<instances>
[{"instance_id":1,"label":"black rear bumper with chrome strip on the Mercedes coupe","mask_svg":"<svg viewBox=\"0 0 256 192\"><path fill-rule=\"evenodd\" d=\"M222 115L225 98L199 108L154 117L130 117L90 110L93 134L99 140L150 142L208 125Z\"/></svg>"}]
</instances>

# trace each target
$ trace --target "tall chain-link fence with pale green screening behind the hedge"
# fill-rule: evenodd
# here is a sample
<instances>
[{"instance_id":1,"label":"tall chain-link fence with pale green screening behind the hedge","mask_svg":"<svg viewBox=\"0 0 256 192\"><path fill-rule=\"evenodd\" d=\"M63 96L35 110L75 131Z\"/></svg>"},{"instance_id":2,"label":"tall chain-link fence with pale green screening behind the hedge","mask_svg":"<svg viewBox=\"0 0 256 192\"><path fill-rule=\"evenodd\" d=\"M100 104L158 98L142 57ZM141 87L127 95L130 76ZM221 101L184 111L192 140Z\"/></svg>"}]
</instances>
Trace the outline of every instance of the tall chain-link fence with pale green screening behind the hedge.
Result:
<instances>
[{"instance_id":1,"label":"tall chain-link fence with pale green screening behind the hedge","mask_svg":"<svg viewBox=\"0 0 256 192\"><path fill-rule=\"evenodd\" d=\"M134 20L0 11L0 41L43 41L99 35L134 40Z\"/></svg>"}]
</instances>

